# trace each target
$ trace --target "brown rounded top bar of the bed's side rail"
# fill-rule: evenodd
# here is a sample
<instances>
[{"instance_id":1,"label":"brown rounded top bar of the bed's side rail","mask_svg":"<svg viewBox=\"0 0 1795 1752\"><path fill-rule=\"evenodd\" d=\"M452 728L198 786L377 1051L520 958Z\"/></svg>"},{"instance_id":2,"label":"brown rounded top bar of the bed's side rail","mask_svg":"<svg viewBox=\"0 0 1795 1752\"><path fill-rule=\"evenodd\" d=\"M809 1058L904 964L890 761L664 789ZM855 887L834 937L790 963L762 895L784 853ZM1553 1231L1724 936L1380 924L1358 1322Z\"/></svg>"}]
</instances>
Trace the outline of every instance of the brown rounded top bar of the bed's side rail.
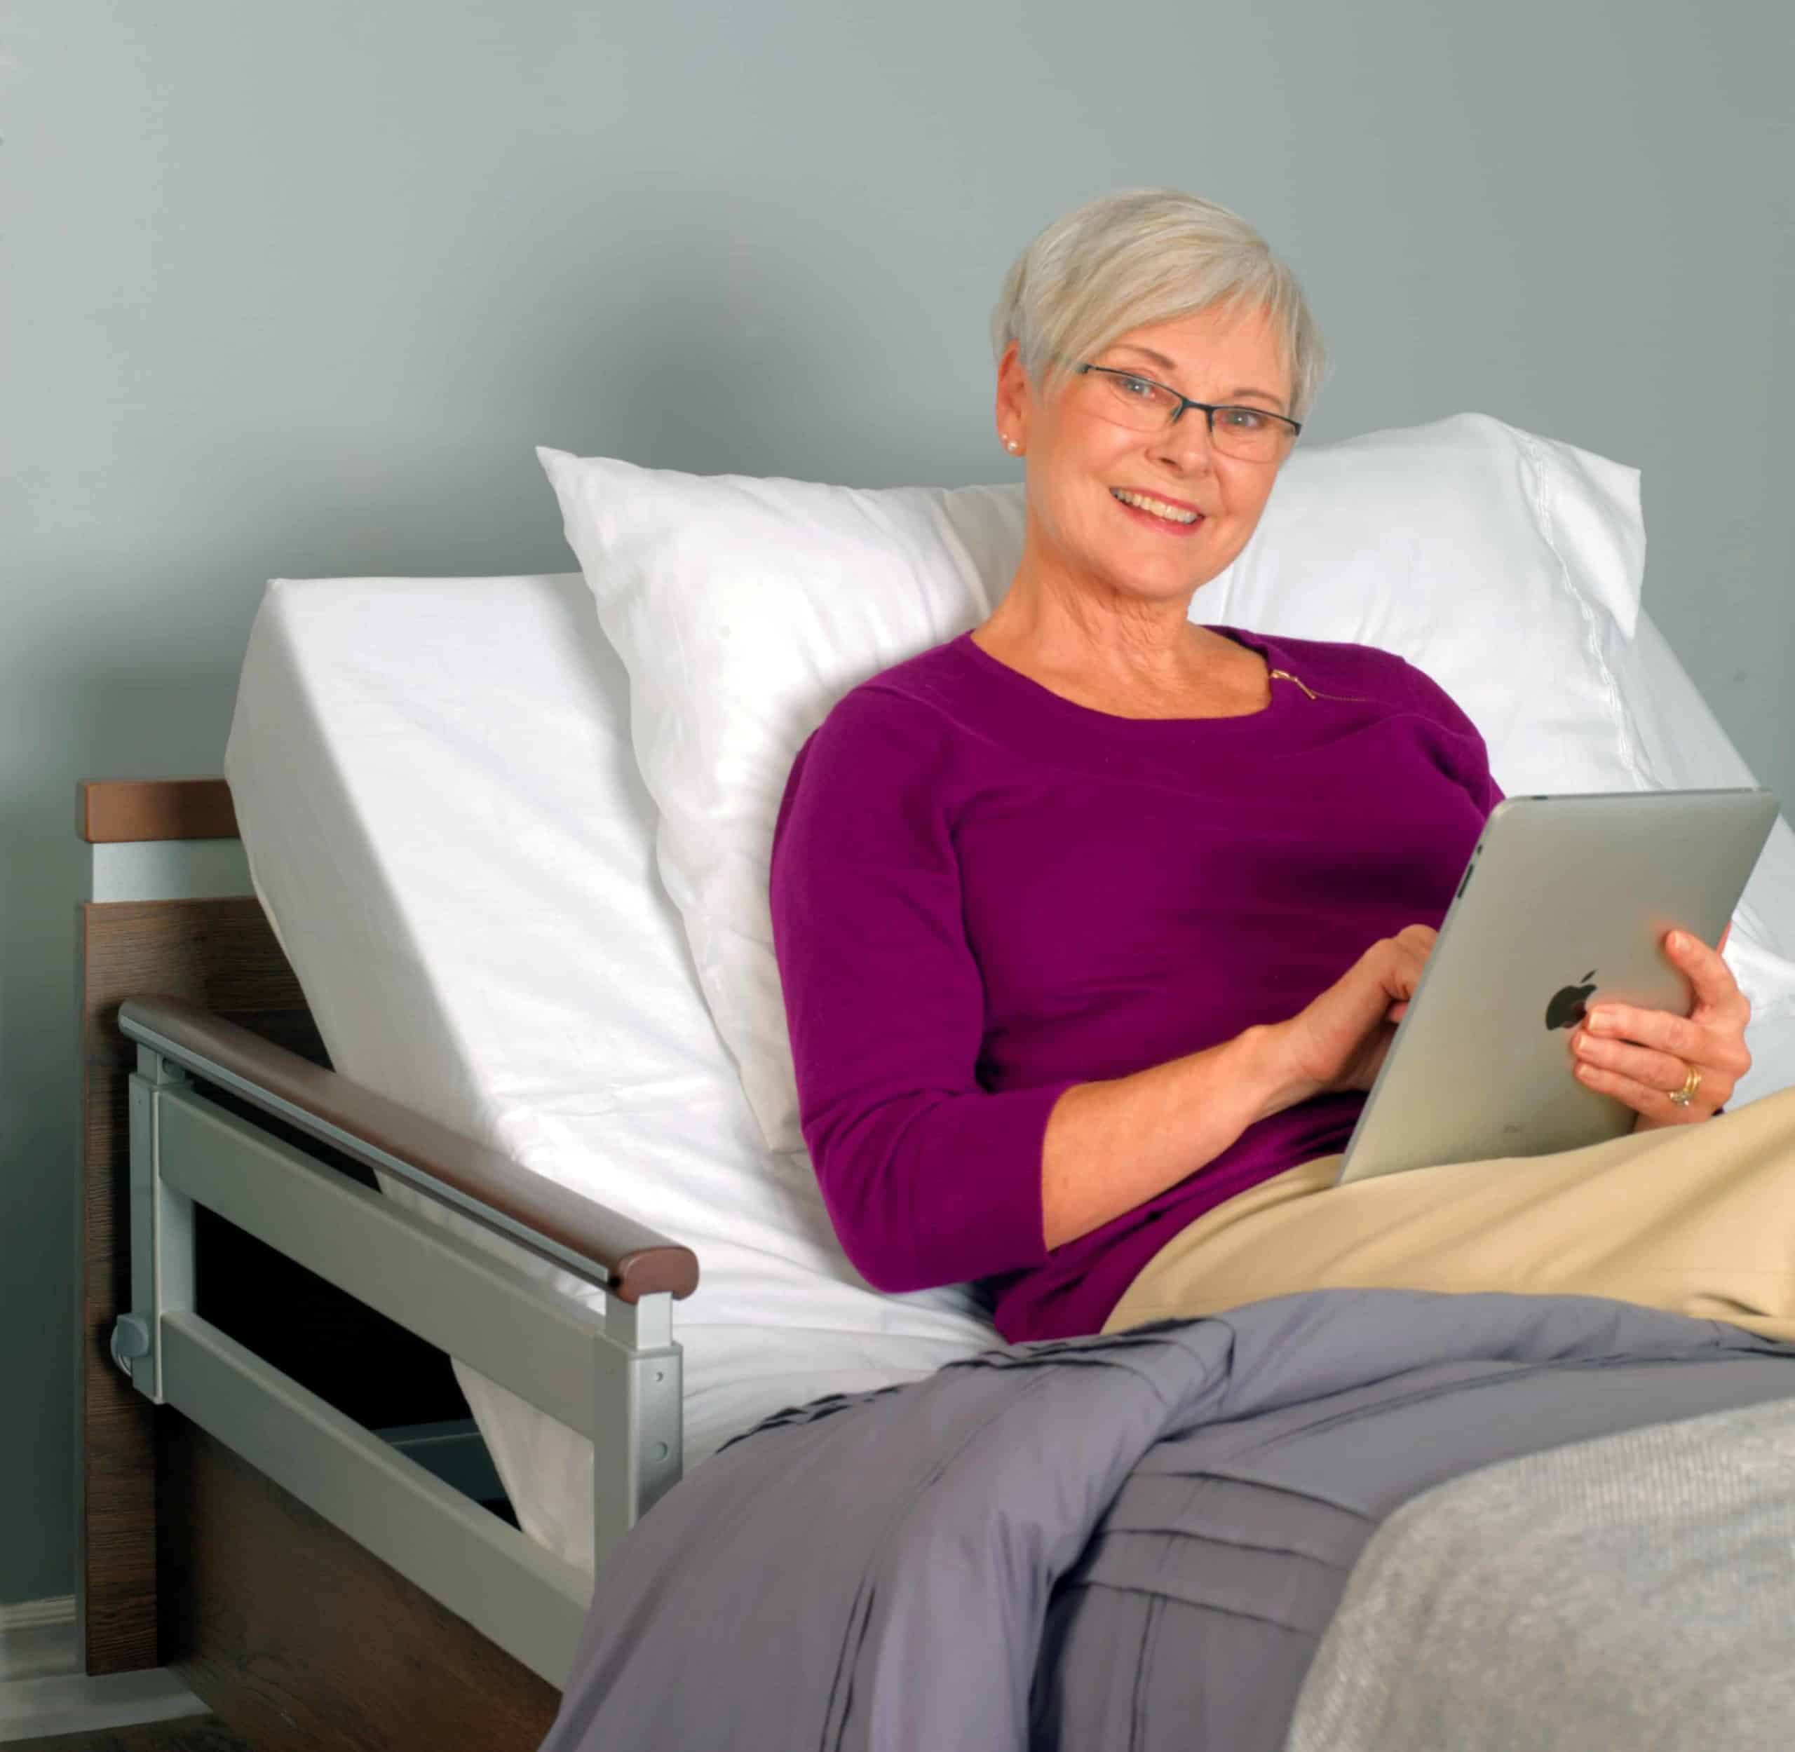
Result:
<instances>
[{"instance_id":1,"label":"brown rounded top bar of the bed's side rail","mask_svg":"<svg viewBox=\"0 0 1795 1752\"><path fill-rule=\"evenodd\" d=\"M197 1003L156 994L127 998L120 1005L118 1020L129 1020L178 1048L178 1054L171 1054L176 1063L185 1063L181 1056L199 1061L188 1066L199 1077L206 1075L208 1064L241 1077L253 1090L296 1108L354 1142L418 1169L556 1248L578 1255L600 1267L583 1271L582 1276L605 1283L623 1301L637 1301L657 1291L671 1291L675 1298L684 1298L698 1287L698 1257L691 1248L677 1246L643 1222L619 1217L578 1192L531 1174L497 1151L474 1143L373 1090L364 1090L337 1072L312 1064L223 1016L214 1016ZM250 1090L232 1082L221 1086L255 1102ZM280 1109L269 1108L269 1111ZM282 1117L293 1120L293 1115ZM294 1124L303 1126L303 1120ZM354 1154L339 1136L325 1142ZM578 1269L565 1258L556 1258L556 1264Z\"/></svg>"}]
</instances>

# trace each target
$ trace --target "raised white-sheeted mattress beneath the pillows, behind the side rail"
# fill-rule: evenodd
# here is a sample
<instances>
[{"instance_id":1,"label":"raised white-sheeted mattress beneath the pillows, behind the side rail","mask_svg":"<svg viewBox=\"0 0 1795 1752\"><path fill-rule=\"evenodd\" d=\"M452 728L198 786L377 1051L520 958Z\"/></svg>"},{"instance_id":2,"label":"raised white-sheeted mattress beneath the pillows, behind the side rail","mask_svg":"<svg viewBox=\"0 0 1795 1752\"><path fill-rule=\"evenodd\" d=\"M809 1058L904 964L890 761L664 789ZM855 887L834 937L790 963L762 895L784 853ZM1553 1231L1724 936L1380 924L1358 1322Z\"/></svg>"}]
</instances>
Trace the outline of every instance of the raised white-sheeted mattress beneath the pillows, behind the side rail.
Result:
<instances>
[{"instance_id":1,"label":"raised white-sheeted mattress beneath the pillows, behind the side rail","mask_svg":"<svg viewBox=\"0 0 1795 1752\"><path fill-rule=\"evenodd\" d=\"M1646 618L1628 662L1666 783L1748 783ZM915 1379L996 1334L966 1291L867 1289L808 1158L765 1151L653 865L626 689L576 573L276 580L224 770L337 1068L696 1249L700 1287L675 1310L689 1470L783 1406ZM1729 953L1759 1002L1738 1100L1795 1082L1784 824L1747 899L1763 948L1748 968ZM524 1531L591 1567L591 1443L456 1373Z\"/></svg>"}]
</instances>

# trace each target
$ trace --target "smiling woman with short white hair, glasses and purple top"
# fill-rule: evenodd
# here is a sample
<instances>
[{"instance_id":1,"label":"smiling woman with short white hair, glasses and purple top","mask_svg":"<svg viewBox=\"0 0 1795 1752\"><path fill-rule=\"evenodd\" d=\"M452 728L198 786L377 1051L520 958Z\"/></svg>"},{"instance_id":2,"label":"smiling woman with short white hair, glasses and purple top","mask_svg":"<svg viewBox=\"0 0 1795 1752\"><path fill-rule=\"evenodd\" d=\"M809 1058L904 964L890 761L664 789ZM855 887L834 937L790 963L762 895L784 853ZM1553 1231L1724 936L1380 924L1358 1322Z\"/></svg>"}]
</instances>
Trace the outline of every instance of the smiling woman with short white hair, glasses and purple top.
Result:
<instances>
[{"instance_id":1,"label":"smiling woman with short white hair, glasses and purple top","mask_svg":"<svg viewBox=\"0 0 1795 1752\"><path fill-rule=\"evenodd\" d=\"M1325 1285L1795 1339L1795 1091L1712 1118L1750 1005L1703 942L1668 941L1691 1016L1569 1041L1632 1134L1334 1185L1502 793L1402 657L1190 619L1319 386L1291 269L1116 194L1023 251L993 337L1009 594L835 704L774 837L804 1140L867 1282L982 1282L1009 1341Z\"/></svg>"}]
</instances>

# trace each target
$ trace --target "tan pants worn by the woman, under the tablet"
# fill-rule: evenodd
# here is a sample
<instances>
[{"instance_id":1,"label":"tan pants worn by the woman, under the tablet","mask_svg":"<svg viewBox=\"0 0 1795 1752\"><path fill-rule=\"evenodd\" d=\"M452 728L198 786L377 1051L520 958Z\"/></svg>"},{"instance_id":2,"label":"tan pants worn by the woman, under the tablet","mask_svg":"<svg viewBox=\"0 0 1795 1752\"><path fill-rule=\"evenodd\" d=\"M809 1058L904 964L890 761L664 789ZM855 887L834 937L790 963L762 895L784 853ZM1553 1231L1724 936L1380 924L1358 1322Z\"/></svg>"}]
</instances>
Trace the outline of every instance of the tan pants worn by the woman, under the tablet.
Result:
<instances>
[{"instance_id":1,"label":"tan pants worn by the woman, under the tablet","mask_svg":"<svg viewBox=\"0 0 1795 1752\"><path fill-rule=\"evenodd\" d=\"M1104 1332L1303 1289L1612 1296L1795 1341L1795 1088L1700 1126L1334 1185L1318 1156L1174 1235Z\"/></svg>"}]
</instances>

